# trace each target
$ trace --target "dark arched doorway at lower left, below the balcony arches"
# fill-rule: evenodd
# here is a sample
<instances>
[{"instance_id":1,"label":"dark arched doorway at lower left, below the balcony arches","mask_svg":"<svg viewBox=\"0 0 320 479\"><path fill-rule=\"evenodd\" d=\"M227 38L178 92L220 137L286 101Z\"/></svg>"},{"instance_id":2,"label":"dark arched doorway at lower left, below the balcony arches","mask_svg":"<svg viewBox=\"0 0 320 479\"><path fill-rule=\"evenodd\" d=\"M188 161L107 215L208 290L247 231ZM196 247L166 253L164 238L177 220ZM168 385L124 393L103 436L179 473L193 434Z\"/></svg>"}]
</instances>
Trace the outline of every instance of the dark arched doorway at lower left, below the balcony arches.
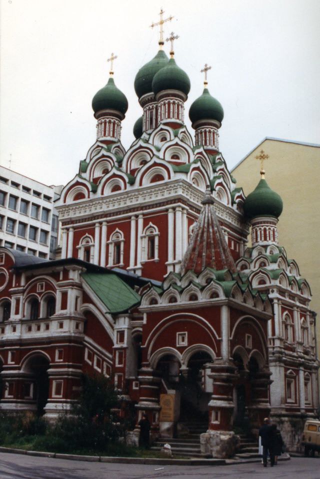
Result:
<instances>
[{"instance_id":1,"label":"dark arched doorway at lower left, below the balcony arches","mask_svg":"<svg viewBox=\"0 0 320 479\"><path fill-rule=\"evenodd\" d=\"M44 406L49 396L49 377L47 370L49 360L43 354L30 356L24 364L26 380L24 381L24 397L32 400L38 414L44 413Z\"/></svg>"}]
</instances>

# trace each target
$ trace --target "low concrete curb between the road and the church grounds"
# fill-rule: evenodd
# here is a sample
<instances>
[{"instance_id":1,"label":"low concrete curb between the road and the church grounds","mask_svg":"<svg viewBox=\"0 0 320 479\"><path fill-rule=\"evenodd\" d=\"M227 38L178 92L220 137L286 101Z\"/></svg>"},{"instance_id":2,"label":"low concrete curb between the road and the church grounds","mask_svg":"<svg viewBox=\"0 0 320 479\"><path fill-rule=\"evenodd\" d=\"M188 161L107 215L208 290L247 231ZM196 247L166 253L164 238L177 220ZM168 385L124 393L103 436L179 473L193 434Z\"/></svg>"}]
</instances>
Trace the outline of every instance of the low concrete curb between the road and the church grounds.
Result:
<instances>
[{"instance_id":1,"label":"low concrete curb between the road and the church grounds","mask_svg":"<svg viewBox=\"0 0 320 479\"><path fill-rule=\"evenodd\" d=\"M159 464L159 465L233 465L246 464L249 462L261 462L260 458L245 459L169 459L156 457L107 457L98 455L60 454L57 452L45 452L37 450L15 449L13 447L1 447L0 452L12 454L26 454L32 456L52 457L56 459L83 460L88 462L114 462L119 464ZM290 455L281 457L278 460L289 460Z\"/></svg>"}]
</instances>

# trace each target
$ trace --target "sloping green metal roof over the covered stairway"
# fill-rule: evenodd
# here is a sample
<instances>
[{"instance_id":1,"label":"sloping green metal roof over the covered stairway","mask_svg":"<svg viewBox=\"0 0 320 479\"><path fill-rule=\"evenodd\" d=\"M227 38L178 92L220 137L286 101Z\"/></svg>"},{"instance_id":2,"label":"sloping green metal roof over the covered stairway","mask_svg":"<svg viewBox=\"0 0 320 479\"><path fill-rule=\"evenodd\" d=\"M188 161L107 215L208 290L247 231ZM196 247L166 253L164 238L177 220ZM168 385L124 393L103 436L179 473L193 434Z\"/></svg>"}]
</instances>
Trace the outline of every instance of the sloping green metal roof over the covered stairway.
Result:
<instances>
[{"instance_id":1,"label":"sloping green metal roof over the covered stairway","mask_svg":"<svg viewBox=\"0 0 320 479\"><path fill-rule=\"evenodd\" d=\"M140 302L139 294L112 272L81 276L110 313L124 312Z\"/></svg>"}]
</instances>

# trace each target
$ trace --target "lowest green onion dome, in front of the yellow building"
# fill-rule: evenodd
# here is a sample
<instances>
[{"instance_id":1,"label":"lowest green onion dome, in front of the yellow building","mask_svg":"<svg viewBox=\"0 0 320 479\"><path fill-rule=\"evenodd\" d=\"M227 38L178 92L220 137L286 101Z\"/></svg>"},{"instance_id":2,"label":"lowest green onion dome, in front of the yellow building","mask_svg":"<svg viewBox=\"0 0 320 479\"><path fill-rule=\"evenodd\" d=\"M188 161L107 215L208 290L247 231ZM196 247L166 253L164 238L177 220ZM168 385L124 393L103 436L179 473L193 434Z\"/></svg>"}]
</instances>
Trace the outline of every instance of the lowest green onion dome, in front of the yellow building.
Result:
<instances>
[{"instance_id":1,"label":"lowest green onion dome, in front of the yellow building","mask_svg":"<svg viewBox=\"0 0 320 479\"><path fill-rule=\"evenodd\" d=\"M244 215L248 219L256 216L274 216L278 218L282 212L282 199L273 191L264 178L261 178L256 188L247 195L243 203Z\"/></svg>"}]
</instances>

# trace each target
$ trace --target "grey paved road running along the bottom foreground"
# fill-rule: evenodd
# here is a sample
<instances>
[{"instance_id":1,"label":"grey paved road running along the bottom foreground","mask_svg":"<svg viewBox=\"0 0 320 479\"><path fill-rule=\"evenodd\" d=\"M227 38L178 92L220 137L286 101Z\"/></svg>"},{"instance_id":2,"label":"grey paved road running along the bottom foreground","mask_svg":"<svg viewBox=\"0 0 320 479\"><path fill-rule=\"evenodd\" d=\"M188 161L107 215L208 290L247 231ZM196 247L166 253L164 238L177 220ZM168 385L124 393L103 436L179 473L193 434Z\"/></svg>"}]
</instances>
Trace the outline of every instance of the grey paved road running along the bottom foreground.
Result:
<instances>
[{"instance_id":1,"label":"grey paved road running along the bottom foreground","mask_svg":"<svg viewBox=\"0 0 320 479\"><path fill-rule=\"evenodd\" d=\"M155 470L161 467L160 470ZM163 467L163 469L162 469ZM73 461L0 453L0 479L319 479L319 457L293 457L275 467L140 465Z\"/></svg>"}]
</instances>

